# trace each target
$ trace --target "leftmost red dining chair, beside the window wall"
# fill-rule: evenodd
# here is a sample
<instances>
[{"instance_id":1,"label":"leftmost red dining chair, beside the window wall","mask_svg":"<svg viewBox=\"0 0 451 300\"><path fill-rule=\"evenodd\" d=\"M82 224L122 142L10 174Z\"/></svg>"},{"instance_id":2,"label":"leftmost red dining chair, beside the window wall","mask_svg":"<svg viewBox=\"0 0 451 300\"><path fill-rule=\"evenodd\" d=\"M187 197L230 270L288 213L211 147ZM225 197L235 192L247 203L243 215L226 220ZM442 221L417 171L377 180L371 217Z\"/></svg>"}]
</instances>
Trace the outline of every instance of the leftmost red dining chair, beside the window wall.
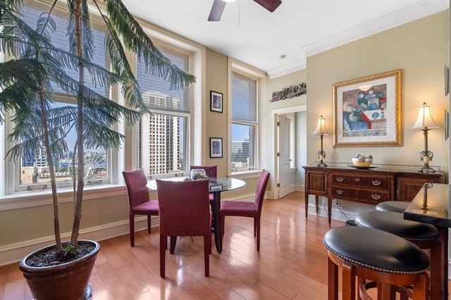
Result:
<instances>
[{"instance_id":1,"label":"leftmost red dining chair, beside the window wall","mask_svg":"<svg viewBox=\"0 0 451 300\"><path fill-rule=\"evenodd\" d=\"M147 215L147 232L150 233L151 215L159 215L158 201L150 200L144 170L123 171L122 174L130 204L130 246L135 246L135 215Z\"/></svg>"}]
</instances>

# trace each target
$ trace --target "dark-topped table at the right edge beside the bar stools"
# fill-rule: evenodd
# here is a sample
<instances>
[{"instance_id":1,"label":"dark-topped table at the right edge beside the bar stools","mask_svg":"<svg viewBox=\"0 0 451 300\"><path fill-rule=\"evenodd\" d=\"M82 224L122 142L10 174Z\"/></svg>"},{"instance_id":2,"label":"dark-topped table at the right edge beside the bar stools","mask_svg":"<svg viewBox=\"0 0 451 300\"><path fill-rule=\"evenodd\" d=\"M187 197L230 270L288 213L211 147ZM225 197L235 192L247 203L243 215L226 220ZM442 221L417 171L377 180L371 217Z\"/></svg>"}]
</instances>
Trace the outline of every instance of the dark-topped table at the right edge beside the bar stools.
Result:
<instances>
[{"instance_id":1,"label":"dark-topped table at the right edge beside the bar stools","mask_svg":"<svg viewBox=\"0 0 451 300\"><path fill-rule=\"evenodd\" d=\"M450 185L425 183L404 211L404 219L435 225L440 232L440 260L442 282L440 295L431 299L448 299L448 228L451 204Z\"/></svg>"}]
</instances>

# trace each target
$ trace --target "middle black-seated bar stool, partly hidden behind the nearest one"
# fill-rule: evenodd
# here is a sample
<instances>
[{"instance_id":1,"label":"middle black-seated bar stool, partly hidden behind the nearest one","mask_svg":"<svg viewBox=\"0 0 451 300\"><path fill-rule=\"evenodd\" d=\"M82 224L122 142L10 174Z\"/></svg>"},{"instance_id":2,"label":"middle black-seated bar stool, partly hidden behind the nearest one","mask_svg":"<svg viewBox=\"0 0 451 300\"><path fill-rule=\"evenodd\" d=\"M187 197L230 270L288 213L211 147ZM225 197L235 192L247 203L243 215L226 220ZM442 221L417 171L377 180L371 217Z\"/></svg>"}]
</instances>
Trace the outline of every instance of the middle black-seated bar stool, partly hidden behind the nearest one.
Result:
<instances>
[{"instance_id":1,"label":"middle black-seated bar stool, partly hidden behind the nearest one","mask_svg":"<svg viewBox=\"0 0 451 300\"><path fill-rule=\"evenodd\" d=\"M395 201L396 202L396 201ZM404 220L402 213L393 211L366 211L355 218L357 226L393 233L416 244L421 249L429 249L431 261L431 299L440 297L440 232L430 224Z\"/></svg>"}]
</instances>

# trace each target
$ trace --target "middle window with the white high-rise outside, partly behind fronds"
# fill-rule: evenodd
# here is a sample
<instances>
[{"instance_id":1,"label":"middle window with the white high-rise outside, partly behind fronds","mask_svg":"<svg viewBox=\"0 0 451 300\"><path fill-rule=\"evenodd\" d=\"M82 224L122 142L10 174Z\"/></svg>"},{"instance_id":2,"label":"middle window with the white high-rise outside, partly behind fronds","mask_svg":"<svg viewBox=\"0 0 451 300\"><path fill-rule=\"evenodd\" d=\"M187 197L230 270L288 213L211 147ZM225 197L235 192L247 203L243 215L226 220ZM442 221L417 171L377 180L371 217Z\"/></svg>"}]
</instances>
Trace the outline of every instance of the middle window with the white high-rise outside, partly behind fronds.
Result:
<instances>
[{"instance_id":1,"label":"middle window with the white high-rise outside, partly behind fronds","mask_svg":"<svg viewBox=\"0 0 451 300\"><path fill-rule=\"evenodd\" d=\"M190 73L190 55L160 47L160 51ZM170 90L166 80L145 73L144 63L137 61L137 80L142 98L152 115L144 115L138 128L137 168L150 176L187 172L190 140L190 88Z\"/></svg>"}]
</instances>

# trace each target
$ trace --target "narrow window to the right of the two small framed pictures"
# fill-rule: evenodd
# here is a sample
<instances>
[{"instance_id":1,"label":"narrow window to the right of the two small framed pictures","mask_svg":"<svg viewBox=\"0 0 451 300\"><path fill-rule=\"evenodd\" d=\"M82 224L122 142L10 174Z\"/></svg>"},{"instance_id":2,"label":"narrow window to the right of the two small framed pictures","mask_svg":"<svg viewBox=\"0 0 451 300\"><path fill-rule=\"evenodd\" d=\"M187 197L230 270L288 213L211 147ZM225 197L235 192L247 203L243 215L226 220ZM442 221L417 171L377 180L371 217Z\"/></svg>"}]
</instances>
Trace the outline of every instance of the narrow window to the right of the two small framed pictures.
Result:
<instances>
[{"instance_id":1,"label":"narrow window to the right of the two small framed pictures","mask_svg":"<svg viewBox=\"0 0 451 300\"><path fill-rule=\"evenodd\" d=\"M257 81L232 73L232 171L256 168Z\"/></svg>"}]
</instances>

